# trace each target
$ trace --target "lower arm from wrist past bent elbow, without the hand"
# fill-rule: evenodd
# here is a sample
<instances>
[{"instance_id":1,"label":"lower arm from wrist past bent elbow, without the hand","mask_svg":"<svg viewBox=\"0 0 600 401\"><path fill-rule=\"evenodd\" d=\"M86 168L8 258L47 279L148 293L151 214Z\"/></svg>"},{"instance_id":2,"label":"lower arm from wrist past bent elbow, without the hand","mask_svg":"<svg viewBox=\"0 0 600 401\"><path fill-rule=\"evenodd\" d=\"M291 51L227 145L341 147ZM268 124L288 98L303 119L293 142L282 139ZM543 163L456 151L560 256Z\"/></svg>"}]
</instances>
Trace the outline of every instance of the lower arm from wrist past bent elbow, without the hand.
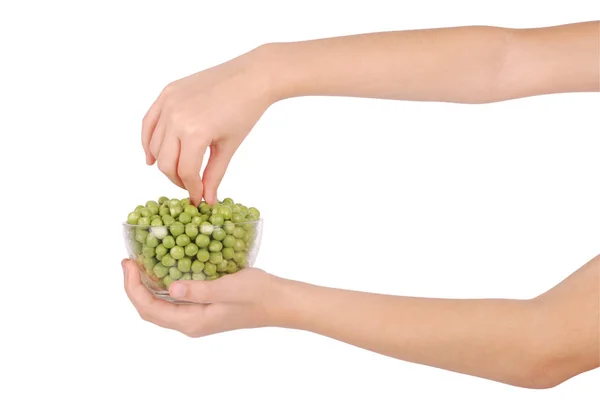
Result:
<instances>
[{"instance_id":1,"label":"lower arm from wrist past bent elbow, without the hand","mask_svg":"<svg viewBox=\"0 0 600 401\"><path fill-rule=\"evenodd\" d=\"M600 257L531 300L386 296L285 281L277 325L520 387L600 366Z\"/></svg>"}]
</instances>

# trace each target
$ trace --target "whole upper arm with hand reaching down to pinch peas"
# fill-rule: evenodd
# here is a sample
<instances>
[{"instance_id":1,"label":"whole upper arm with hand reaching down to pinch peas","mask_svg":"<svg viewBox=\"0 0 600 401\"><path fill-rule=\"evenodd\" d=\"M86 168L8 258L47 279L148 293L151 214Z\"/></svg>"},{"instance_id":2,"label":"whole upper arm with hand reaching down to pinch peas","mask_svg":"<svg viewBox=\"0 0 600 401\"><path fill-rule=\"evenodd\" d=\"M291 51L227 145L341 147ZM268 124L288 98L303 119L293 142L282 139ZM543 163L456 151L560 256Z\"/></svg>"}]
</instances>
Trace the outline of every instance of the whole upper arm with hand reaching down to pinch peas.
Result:
<instances>
[{"instance_id":1,"label":"whole upper arm with hand reaching down to pinch peas","mask_svg":"<svg viewBox=\"0 0 600 401\"><path fill-rule=\"evenodd\" d=\"M474 104L597 92L599 60L598 21L270 43L167 85L143 119L142 145L146 163L189 191L193 204L213 204L235 151L275 102L351 96Z\"/></svg>"}]
</instances>

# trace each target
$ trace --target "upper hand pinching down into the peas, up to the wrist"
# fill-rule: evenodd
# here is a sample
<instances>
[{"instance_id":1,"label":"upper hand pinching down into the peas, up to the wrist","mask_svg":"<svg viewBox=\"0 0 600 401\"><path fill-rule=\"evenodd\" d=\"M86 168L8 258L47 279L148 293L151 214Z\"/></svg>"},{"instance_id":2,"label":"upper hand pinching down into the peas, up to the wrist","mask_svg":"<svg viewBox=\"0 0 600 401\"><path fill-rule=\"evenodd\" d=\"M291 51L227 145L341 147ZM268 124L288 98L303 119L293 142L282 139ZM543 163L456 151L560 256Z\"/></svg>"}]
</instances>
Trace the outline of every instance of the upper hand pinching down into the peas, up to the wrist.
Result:
<instances>
[{"instance_id":1,"label":"upper hand pinching down into the peas, up to the wrist","mask_svg":"<svg viewBox=\"0 0 600 401\"><path fill-rule=\"evenodd\" d=\"M142 123L146 163L174 184L214 204L217 189L235 151L266 109L269 73L259 49L170 83ZM206 149L210 158L202 178Z\"/></svg>"}]
</instances>

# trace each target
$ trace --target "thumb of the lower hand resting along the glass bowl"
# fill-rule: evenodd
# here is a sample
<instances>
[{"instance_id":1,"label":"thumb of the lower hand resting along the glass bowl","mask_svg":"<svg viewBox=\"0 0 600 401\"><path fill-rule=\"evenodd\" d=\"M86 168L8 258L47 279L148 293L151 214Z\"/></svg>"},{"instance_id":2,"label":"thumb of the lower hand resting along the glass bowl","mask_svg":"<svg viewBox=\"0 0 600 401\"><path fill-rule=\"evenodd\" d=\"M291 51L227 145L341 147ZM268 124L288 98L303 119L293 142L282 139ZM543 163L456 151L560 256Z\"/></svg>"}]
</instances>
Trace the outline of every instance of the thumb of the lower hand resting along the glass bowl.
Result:
<instances>
[{"instance_id":1,"label":"thumb of the lower hand resting along the glass bowl","mask_svg":"<svg viewBox=\"0 0 600 401\"><path fill-rule=\"evenodd\" d=\"M175 299L200 304L242 302L247 295L242 281L244 273L241 271L211 281L176 281L171 284L169 294Z\"/></svg>"}]
</instances>

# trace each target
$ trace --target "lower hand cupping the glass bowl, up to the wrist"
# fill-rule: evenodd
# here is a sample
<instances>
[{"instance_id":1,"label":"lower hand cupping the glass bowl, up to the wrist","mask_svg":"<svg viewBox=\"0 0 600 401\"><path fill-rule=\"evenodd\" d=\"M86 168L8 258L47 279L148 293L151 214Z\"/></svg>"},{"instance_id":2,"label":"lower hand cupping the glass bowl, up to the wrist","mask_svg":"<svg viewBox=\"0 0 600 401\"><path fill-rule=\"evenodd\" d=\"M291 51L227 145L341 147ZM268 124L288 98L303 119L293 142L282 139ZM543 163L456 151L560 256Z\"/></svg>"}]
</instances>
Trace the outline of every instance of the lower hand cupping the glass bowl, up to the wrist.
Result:
<instances>
[{"instance_id":1,"label":"lower hand cupping the glass bowl, up to the wrist","mask_svg":"<svg viewBox=\"0 0 600 401\"><path fill-rule=\"evenodd\" d=\"M199 304L176 305L155 298L140 281L134 261L122 262L125 291L140 317L189 337L274 325L274 299L279 280L263 270L244 270L214 281L177 281L169 289L179 300Z\"/></svg>"}]
</instances>

